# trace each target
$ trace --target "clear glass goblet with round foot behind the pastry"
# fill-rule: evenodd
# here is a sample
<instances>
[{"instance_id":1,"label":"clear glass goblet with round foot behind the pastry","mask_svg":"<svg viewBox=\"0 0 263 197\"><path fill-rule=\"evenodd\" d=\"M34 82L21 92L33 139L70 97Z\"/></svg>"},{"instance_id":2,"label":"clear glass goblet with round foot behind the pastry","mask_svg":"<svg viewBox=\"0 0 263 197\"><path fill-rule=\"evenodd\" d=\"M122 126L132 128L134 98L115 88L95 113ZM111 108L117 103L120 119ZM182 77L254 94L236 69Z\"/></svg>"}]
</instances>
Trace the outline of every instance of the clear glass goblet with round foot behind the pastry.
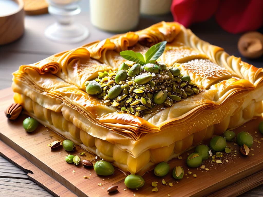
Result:
<instances>
[{"instance_id":1,"label":"clear glass goblet with round foot behind the pastry","mask_svg":"<svg viewBox=\"0 0 263 197\"><path fill-rule=\"evenodd\" d=\"M57 22L45 29L45 36L60 43L77 43L88 37L88 29L74 22L74 16L80 13L79 0L47 0L48 12Z\"/></svg>"}]
</instances>

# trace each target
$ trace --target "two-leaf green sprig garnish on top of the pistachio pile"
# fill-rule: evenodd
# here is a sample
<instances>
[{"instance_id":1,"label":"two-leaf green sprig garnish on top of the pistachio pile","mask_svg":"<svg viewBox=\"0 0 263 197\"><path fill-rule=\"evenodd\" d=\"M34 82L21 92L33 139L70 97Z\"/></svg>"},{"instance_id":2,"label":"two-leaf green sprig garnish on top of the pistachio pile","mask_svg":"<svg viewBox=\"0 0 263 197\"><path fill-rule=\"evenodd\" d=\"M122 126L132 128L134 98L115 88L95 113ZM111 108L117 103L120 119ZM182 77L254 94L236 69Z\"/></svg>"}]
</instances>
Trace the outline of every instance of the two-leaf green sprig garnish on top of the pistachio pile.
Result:
<instances>
[{"instance_id":1,"label":"two-leaf green sprig garnish on top of the pistachio pile","mask_svg":"<svg viewBox=\"0 0 263 197\"><path fill-rule=\"evenodd\" d=\"M132 50L121 51L120 55L127 60L136 62L140 65L147 63L154 63L164 52L166 41L159 42L149 48L145 55L141 53L135 53Z\"/></svg>"}]
</instances>

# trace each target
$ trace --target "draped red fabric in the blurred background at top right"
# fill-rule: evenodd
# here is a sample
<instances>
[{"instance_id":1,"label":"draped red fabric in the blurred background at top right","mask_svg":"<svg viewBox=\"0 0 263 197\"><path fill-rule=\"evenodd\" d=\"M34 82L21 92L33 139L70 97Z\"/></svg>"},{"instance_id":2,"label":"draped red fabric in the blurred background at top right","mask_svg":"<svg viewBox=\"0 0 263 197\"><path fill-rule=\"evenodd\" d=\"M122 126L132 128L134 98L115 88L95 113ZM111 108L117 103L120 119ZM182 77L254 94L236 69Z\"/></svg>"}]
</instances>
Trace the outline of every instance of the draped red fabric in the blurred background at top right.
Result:
<instances>
[{"instance_id":1,"label":"draped red fabric in the blurred background at top right","mask_svg":"<svg viewBox=\"0 0 263 197\"><path fill-rule=\"evenodd\" d=\"M215 15L224 30L241 33L263 25L263 0L173 0L171 13L185 27Z\"/></svg>"}]
</instances>

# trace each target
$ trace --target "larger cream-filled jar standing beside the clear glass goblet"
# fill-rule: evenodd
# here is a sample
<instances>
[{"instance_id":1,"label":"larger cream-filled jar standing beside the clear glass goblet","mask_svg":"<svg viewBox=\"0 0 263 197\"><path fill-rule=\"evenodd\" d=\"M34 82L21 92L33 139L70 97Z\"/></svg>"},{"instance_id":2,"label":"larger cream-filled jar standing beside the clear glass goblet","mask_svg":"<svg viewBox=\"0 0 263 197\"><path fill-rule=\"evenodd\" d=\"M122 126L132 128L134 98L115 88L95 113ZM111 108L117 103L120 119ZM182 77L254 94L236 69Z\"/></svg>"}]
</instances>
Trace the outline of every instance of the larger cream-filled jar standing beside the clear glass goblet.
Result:
<instances>
[{"instance_id":1,"label":"larger cream-filled jar standing beside the clear glass goblet","mask_svg":"<svg viewBox=\"0 0 263 197\"><path fill-rule=\"evenodd\" d=\"M138 25L139 6L139 0L90 0L90 19L100 29L126 32Z\"/></svg>"}]
</instances>

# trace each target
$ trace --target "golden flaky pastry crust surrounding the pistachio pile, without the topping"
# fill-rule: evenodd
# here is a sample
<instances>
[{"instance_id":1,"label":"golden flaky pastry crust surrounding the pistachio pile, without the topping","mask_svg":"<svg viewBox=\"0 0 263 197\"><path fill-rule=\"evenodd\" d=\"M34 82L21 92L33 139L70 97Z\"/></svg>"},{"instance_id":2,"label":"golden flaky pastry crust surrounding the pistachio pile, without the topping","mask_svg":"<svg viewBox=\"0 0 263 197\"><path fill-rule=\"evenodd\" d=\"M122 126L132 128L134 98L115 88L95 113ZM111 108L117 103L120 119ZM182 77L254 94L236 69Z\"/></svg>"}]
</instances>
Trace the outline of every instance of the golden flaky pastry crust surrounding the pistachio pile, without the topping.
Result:
<instances>
[{"instance_id":1,"label":"golden flaky pastry crust surrounding the pistachio pile, without the topping","mask_svg":"<svg viewBox=\"0 0 263 197\"><path fill-rule=\"evenodd\" d=\"M200 94L136 117L85 92L85 82L98 72L131 63L120 51L144 54L164 40L168 43L158 61L189 75L203 90ZM263 112L262 68L228 55L176 22L161 22L55 54L20 66L13 76L14 99L30 115L131 173L144 173L155 163ZM111 148L103 149L106 145ZM166 155L161 154L164 148Z\"/></svg>"}]
</instances>

